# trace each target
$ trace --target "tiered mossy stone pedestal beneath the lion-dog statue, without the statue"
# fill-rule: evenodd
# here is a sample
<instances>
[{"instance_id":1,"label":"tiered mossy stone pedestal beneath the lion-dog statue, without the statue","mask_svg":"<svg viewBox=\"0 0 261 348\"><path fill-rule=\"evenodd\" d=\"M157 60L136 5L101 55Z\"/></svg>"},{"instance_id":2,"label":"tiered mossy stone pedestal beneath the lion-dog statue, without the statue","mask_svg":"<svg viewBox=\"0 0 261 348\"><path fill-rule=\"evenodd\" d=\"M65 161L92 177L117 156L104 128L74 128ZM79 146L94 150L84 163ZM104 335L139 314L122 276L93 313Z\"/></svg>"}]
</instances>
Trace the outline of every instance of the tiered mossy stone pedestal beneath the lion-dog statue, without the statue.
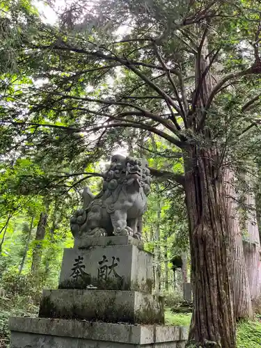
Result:
<instances>
[{"instance_id":1,"label":"tiered mossy stone pedestal beneath the lion-dog statue, without the statue","mask_svg":"<svg viewBox=\"0 0 261 348\"><path fill-rule=\"evenodd\" d=\"M38 318L11 318L10 348L184 348L187 327L164 326L151 294L152 255L131 237L78 239Z\"/></svg>"}]
</instances>

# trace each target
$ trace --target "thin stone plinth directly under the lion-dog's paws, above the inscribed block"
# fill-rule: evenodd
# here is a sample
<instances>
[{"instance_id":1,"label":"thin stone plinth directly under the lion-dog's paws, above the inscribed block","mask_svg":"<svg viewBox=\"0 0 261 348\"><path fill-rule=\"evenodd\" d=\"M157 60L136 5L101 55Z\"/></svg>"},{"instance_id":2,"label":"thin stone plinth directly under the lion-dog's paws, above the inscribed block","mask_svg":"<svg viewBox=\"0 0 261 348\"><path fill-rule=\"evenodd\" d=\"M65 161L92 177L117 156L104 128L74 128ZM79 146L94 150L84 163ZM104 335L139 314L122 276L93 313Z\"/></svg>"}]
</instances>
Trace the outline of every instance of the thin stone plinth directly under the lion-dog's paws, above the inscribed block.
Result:
<instances>
[{"instance_id":1,"label":"thin stone plinth directly under the lion-dog's paws, above the inscribed block","mask_svg":"<svg viewBox=\"0 0 261 348\"><path fill-rule=\"evenodd\" d=\"M143 250L144 244L139 239L130 236L86 237L74 239L74 248L88 248L90 246L135 245Z\"/></svg>"}]
</instances>

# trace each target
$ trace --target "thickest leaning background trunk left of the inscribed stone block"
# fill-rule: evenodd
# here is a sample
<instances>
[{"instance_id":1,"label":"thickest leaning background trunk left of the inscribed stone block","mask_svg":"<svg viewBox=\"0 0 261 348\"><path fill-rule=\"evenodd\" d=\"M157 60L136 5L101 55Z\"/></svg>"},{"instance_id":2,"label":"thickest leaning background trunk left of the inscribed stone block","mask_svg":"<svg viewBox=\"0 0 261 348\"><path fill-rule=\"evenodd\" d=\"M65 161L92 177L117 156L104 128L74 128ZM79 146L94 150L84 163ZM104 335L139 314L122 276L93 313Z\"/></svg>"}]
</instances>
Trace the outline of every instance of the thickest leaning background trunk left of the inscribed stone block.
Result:
<instances>
[{"instance_id":1,"label":"thickest leaning background trunk left of the inscribed stone block","mask_svg":"<svg viewBox=\"0 0 261 348\"><path fill-rule=\"evenodd\" d=\"M40 219L36 230L35 247L33 248L31 272L34 276L38 275L40 269L40 263L42 259L42 241L45 239L47 219L48 215L42 212L40 214Z\"/></svg>"}]
</instances>

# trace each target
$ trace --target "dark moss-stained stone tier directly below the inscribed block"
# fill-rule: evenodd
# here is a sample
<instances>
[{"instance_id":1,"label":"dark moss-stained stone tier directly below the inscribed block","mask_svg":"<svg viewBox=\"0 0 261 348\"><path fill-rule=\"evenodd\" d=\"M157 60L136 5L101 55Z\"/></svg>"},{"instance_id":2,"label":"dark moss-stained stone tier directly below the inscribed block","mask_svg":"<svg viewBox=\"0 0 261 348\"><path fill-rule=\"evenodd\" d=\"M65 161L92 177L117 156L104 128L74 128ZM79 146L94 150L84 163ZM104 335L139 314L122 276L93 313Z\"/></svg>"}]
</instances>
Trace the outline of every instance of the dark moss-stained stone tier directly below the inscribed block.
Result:
<instances>
[{"instance_id":1,"label":"dark moss-stained stone tier directly below the inscribed block","mask_svg":"<svg viewBox=\"0 0 261 348\"><path fill-rule=\"evenodd\" d=\"M39 317L164 324L164 301L134 291L43 290Z\"/></svg>"}]
</instances>

